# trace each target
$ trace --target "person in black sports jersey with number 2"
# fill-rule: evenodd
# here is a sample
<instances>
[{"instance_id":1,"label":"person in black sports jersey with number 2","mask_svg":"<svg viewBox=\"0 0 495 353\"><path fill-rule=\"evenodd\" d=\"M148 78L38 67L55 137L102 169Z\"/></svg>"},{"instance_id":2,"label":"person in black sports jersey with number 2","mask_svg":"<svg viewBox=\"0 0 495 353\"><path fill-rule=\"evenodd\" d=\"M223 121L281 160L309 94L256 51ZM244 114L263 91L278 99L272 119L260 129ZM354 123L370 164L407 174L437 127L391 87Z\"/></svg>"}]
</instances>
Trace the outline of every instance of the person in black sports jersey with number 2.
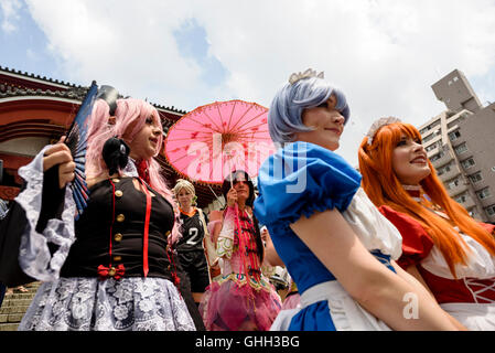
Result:
<instances>
[{"instance_id":1,"label":"person in black sports jersey with number 2","mask_svg":"<svg viewBox=\"0 0 495 353\"><path fill-rule=\"evenodd\" d=\"M209 236L206 227L207 218L197 208L194 185L184 179L179 179L173 192L181 212L181 234L176 244L179 260L191 281L194 301L200 304L205 288L209 285L209 270L205 254L205 235Z\"/></svg>"}]
</instances>

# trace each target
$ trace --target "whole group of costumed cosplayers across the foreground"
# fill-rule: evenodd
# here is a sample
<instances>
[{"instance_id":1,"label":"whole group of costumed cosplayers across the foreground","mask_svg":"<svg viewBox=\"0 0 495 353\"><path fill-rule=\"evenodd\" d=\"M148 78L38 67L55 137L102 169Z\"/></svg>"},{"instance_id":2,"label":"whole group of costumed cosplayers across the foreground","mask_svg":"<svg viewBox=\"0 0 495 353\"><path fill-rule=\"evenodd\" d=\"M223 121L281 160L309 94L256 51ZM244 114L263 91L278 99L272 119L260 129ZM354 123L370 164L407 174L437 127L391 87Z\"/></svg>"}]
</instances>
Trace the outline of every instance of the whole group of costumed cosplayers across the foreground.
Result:
<instances>
[{"instance_id":1,"label":"whole group of costumed cosplayers across the foreground","mask_svg":"<svg viewBox=\"0 0 495 353\"><path fill-rule=\"evenodd\" d=\"M256 186L233 170L206 214L192 182L160 173L157 109L100 89L84 213L64 138L2 207L1 295L41 284L19 330L495 330L495 226L449 196L398 118L370 126L357 171L335 152L349 118L322 73L292 74Z\"/></svg>"}]
</instances>

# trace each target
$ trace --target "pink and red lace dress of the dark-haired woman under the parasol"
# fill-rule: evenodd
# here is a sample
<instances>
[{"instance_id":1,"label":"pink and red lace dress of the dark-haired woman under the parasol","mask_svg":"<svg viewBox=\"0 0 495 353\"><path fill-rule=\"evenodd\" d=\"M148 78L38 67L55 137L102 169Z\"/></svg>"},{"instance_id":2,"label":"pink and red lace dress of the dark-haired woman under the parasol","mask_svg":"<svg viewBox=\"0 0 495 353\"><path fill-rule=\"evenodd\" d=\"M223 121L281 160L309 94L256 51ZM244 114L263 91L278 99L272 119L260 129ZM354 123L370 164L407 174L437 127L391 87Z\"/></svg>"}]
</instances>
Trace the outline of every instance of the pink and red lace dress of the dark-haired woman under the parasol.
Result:
<instances>
[{"instance_id":1,"label":"pink and red lace dress of the dark-haired woman under the parasol","mask_svg":"<svg viewBox=\"0 0 495 353\"><path fill-rule=\"evenodd\" d=\"M240 226L240 232L238 231ZM268 331L281 308L275 287L261 276L252 217L228 207L217 240L222 277L203 296L200 312L208 331Z\"/></svg>"}]
</instances>

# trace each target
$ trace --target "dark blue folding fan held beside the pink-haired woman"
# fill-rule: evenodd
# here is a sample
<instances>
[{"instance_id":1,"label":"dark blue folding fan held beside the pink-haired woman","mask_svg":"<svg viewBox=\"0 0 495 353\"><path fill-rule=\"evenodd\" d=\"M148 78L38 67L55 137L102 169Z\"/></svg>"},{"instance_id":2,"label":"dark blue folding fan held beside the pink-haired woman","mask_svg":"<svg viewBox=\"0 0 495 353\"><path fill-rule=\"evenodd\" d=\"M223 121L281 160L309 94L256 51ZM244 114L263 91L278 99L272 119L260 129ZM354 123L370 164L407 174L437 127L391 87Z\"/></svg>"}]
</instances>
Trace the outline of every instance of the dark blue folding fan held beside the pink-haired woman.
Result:
<instances>
[{"instance_id":1,"label":"dark blue folding fan held beside the pink-haired woman","mask_svg":"<svg viewBox=\"0 0 495 353\"><path fill-rule=\"evenodd\" d=\"M87 132L89 127L89 117L92 115L93 105L98 93L98 86L94 81L84 98L74 121L68 129L65 143L71 150L74 162L76 163L75 179L69 184L74 201L76 203L77 213L75 218L78 220L87 206L89 190L86 184L85 164L87 150Z\"/></svg>"}]
</instances>

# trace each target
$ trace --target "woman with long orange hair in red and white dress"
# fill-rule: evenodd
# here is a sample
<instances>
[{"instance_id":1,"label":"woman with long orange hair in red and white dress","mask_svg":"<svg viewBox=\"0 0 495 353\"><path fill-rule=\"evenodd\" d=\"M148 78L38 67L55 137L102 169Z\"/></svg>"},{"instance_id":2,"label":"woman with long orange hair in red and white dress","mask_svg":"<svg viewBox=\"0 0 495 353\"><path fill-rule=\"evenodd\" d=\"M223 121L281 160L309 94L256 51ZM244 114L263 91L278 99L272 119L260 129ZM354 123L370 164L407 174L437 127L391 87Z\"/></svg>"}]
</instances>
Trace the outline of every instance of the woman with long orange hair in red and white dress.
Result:
<instances>
[{"instance_id":1,"label":"woman with long orange hair in red and white dress","mask_svg":"<svg viewBox=\"0 0 495 353\"><path fill-rule=\"evenodd\" d=\"M495 226L449 196L412 125L379 119L358 159L363 189L402 235L399 265L466 328L495 330Z\"/></svg>"}]
</instances>

